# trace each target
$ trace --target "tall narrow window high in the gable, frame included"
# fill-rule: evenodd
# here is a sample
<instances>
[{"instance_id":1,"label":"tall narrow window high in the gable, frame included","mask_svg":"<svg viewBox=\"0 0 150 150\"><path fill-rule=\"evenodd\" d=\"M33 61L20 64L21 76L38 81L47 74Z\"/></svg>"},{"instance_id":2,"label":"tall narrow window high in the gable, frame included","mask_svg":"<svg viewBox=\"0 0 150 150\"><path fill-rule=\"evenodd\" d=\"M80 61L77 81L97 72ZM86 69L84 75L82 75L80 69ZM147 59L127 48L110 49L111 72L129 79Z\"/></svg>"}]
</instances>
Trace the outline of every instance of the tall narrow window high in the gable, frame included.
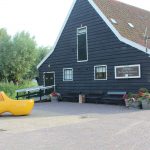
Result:
<instances>
[{"instance_id":1,"label":"tall narrow window high in the gable, frame included","mask_svg":"<svg viewBox=\"0 0 150 150\"><path fill-rule=\"evenodd\" d=\"M88 61L87 27L77 28L77 61Z\"/></svg>"}]
</instances>

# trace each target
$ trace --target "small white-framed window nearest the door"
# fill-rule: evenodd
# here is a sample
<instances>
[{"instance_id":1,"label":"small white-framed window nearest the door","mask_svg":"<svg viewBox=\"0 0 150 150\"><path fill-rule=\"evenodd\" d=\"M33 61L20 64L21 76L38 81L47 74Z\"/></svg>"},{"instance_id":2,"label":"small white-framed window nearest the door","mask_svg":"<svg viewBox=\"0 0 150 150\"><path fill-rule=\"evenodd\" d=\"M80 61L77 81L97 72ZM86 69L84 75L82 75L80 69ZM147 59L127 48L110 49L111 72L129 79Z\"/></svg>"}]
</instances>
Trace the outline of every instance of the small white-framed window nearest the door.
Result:
<instances>
[{"instance_id":1,"label":"small white-framed window nearest the door","mask_svg":"<svg viewBox=\"0 0 150 150\"><path fill-rule=\"evenodd\" d=\"M73 81L73 69L72 68L63 69L63 81Z\"/></svg>"}]
</instances>

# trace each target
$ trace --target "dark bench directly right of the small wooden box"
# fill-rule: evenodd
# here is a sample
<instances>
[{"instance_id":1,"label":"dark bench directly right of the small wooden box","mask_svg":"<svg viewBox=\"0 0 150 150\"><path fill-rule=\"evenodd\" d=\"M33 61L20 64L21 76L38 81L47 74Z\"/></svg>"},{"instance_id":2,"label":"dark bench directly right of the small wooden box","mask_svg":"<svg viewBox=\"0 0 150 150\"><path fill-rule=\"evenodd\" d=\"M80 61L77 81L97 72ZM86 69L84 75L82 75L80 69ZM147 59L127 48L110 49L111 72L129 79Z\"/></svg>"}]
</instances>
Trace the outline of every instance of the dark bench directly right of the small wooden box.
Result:
<instances>
[{"instance_id":1,"label":"dark bench directly right of the small wooden box","mask_svg":"<svg viewBox=\"0 0 150 150\"><path fill-rule=\"evenodd\" d=\"M87 93L85 95L85 101L87 103L100 103L102 96L102 91Z\"/></svg>"}]
</instances>

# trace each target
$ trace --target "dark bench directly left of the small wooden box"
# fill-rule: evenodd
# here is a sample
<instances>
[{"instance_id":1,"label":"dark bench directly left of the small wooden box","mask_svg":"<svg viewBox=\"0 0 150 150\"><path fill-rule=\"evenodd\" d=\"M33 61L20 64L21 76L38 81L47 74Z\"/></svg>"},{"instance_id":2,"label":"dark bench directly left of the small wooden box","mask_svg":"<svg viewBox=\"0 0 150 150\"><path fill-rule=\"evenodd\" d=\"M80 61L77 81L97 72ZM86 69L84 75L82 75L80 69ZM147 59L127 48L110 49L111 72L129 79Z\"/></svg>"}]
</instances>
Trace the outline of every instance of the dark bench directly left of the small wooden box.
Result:
<instances>
[{"instance_id":1,"label":"dark bench directly left of the small wooden box","mask_svg":"<svg viewBox=\"0 0 150 150\"><path fill-rule=\"evenodd\" d=\"M79 93L75 92L62 93L61 101L79 102Z\"/></svg>"}]
</instances>

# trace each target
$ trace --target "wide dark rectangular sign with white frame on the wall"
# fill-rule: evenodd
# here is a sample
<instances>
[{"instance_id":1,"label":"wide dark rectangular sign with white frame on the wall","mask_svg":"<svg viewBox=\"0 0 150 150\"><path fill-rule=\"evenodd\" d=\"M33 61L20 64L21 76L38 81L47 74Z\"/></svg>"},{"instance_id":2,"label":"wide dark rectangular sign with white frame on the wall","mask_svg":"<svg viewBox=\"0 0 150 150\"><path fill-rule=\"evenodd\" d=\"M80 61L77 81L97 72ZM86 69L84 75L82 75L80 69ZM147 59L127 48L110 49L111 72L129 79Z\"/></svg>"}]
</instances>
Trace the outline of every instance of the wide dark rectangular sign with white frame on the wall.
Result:
<instances>
[{"instance_id":1,"label":"wide dark rectangular sign with white frame on the wall","mask_svg":"<svg viewBox=\"0 0 150 150\"><path fill-rule=\"evenodd\" d=\"M115 79L141 78L140 65L115 66Z\"/></svg>"}]
</instances>

